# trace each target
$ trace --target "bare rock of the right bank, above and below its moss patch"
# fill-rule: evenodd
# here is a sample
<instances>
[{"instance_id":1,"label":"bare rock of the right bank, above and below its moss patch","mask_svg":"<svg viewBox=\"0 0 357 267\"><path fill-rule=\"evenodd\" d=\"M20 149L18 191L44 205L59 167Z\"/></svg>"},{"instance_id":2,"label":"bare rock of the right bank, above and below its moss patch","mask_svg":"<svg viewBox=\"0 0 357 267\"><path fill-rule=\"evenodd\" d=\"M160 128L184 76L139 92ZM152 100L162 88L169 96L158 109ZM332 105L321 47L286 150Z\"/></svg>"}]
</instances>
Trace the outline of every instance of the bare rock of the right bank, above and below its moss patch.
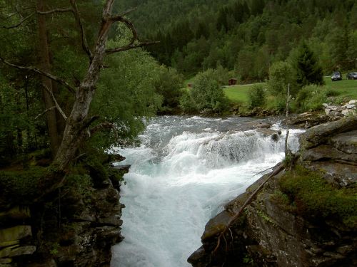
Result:
<instances>
[{"instance_id":1,"label":"bare rock of the right bank, above and below its moss patch","mask_svg":"<svg viewBox=\"0 0 357 267\"><path fill-rule=\"evenodd\" d=\"M357 182L356 137L356 116L311 127L301 136L298 162L322 173L335 187L352 187ZM265 184L218 244L218 235L267 175L208 221L201 237L202 246L188 262L193 267L357 266L356 229L346 229L334 223L333 218L303 218L274 200L282 174Z\"/></svg>"}]
</instances>

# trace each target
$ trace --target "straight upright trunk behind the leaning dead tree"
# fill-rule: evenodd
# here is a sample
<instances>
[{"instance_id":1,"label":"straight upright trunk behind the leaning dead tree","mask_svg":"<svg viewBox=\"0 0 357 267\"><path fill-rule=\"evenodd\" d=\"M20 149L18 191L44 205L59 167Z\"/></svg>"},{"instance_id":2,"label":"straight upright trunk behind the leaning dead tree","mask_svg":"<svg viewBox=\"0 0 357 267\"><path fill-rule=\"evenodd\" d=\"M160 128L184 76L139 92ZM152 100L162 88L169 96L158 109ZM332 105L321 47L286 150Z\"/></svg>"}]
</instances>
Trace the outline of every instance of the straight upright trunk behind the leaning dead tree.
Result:
<instances>
[{"instance_id":1,"label":"straight upright trunk behind the leaning dead tree","mask_svg":"<svg viewBox=\"0 0 357 267\"><path fill-rule=\"evenodd\" d=\"M39 11L44 11L44 0L37 1L37 9ZM47 73L51 72L51 65L49 61L49 43L46 31L46 17L38 16L38 27L39 27L39 56L41 58L41 68ZM54 106L54 101L51 98L49 92L45 89L47 88L52 92L52 80L42 75L42 95L44 98L45 110ZM49 129L49 139L51 145L52 155L56 155L59 147L59 138L57 135L57 120L56 120L56 110L49 110L46 112L46 122Z\"/></svg>"}]
</instances>

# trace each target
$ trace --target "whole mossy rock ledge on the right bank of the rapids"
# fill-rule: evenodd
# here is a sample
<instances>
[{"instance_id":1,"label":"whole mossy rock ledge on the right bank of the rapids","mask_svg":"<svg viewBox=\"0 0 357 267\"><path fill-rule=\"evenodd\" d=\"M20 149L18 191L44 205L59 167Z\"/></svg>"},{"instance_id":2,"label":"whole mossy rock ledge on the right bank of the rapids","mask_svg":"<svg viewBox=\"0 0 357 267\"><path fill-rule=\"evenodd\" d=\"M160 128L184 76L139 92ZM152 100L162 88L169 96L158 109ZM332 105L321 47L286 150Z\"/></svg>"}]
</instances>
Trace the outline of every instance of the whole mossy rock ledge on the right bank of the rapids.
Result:
<instances>
[{"instance_id":1,"label":"whole mossy rock ledge on the right bank of the rapids","mask_svg":"<svg viewBox=\"0 0 357 267\"><path fill-rule=\"evenodd\" d=\"M208 221L194 267L357 266L357 116L308 129L296 164ZM268 182L229 224L260 184ZM218 236L226 229L218 244Z\"/></svg>"}]
</instances>

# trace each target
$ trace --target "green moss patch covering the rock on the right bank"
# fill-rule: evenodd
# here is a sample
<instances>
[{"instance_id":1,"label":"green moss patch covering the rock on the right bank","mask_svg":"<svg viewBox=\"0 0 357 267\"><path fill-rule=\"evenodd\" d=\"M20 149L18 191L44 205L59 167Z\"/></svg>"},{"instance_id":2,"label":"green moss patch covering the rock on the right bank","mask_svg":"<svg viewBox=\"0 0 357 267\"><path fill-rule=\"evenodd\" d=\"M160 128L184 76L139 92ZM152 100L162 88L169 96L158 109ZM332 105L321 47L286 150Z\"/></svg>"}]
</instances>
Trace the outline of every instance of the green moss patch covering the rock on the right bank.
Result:
<instances>
[{"instance_id":1,"label":"green moss patch covering the rock on the right bank","mask_svg":"<svg viewBox=\"0 0 357 267\"><path fill-rule=\"evenodd\" d=\"M348 228L357 226L356 187L336 189L320 174L296 167L280 181L281 192L287 194L296 211L309 219L332 219Z\"/></svg>"}]
</instances>

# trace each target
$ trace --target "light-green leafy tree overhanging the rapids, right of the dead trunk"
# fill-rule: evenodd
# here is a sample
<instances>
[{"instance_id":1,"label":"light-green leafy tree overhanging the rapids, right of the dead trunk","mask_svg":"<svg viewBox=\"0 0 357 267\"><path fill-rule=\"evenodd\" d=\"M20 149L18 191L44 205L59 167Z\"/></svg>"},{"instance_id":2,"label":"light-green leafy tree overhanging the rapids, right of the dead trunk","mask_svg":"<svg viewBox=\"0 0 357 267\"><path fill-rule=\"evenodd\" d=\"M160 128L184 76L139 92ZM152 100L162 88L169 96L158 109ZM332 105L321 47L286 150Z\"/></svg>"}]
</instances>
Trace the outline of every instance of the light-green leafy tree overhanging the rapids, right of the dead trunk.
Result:
<instances>
[{"instance_id":1,"label":"light-green leafy tree overhanging the rapids, right of the dead trunk","mask_svg":"<svg viewBox=\"0 0 357 267\"><path fill-rule=\"evenodd\" d=\"M95 147L134 140L144 130L143 118L156 115L163 99L155 87L160 67L147 52L118 53L108 58L106 64L110 68L101 72L90 113L99 116L96 125L111 123L116 130L109 127L108 131L96 133L92 141Z\"/></svg>"}]
</instances>

